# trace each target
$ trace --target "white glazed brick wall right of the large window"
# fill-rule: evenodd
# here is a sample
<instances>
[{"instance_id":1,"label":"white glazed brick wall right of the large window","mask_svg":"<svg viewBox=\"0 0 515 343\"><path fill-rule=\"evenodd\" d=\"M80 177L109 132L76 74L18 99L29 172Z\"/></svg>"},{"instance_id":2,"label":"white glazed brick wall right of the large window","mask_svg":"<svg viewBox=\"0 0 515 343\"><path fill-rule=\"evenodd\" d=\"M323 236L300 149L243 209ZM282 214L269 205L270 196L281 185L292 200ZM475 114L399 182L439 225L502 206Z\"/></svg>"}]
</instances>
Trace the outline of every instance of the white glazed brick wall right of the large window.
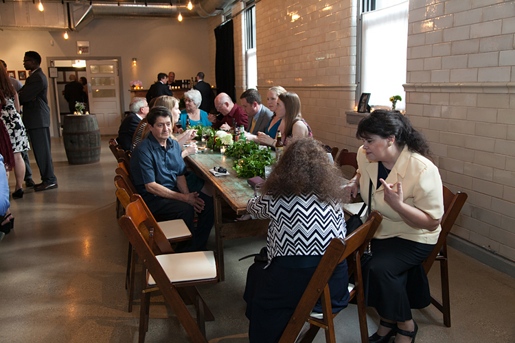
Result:
<instances>
[{"instance_id":1,"label":"white glazed brick wall right of the large window","mask_svg":"<svg viewBox=\"0 0 515 343\"><path fill-rule=\"evenodd\" d=\"M442 180L466 191L453 233L515 259L515 1L409 4L407 114Z\"/></svg>"}]
</instances>

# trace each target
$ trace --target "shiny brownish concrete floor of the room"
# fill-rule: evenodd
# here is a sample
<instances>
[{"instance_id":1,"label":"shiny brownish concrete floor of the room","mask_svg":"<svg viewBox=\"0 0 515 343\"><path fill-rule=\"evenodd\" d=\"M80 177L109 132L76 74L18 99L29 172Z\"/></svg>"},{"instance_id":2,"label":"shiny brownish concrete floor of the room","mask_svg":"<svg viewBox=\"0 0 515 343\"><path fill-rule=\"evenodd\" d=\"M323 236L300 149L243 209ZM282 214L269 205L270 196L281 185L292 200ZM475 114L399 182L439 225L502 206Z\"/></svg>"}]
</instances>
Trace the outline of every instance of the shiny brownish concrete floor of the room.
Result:
<instances>
[{"instance_id":1,"label":"shiny brownish concrete floor of the room","mask_svg":"<svg viewBox=\"0 0 515 343\"><path fill-rule=\"evenodd\" d=\"M26 189L11 201L14 230L0 243L0 342L137 342L139 299L127 308L124 274L127 239L115 217L115 159L102 139L102 159L67 163L62 139L52 141L59 188ZM38 169L32 156L34 181ZM14 189L14 176L10 185ZM248 342L242 294L251 259L264 238L225 244L226 281L200 287L216 321L207 322L211 343ZM214 248L211 235L208 248ZM515 280L450 248L453 327L432 306L413 311L417 342L515 342ZM429 276L439 293L437 265ZM137 294L136 294L137 296ZM368 310L369 332L378 317ZM335 322L338 342L359 342L354 305ZM146 342L191 342L162 296L152 298ZM319 333L315 342L325 342Z\"/></svg>"}]
</instances>

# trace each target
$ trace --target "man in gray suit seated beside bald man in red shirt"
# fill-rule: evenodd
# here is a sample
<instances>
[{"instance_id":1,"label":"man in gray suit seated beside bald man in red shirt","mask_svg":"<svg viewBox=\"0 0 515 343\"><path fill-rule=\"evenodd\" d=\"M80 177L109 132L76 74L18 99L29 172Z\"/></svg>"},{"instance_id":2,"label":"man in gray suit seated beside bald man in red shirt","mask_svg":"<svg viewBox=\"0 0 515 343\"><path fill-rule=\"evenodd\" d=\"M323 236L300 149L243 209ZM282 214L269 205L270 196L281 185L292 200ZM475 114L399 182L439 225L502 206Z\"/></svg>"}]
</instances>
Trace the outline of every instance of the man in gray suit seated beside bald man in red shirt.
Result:
<instances>
[{"instance_id":1,"label":"man in gray suit seated beside bald man in red shirt","mask_svg":"<svg viewBox=\"0 0 515 343\"><path fill-rule=\"evenodd\" d=\"M260 93L253 88L249 88L242 93L240 101L242 108L249 116L249 123L245 130L255 135L257 135L258 132L265 132L273 113L271 110L268 110L266 106L261 104Z\"/></svg>"}]
</instances>

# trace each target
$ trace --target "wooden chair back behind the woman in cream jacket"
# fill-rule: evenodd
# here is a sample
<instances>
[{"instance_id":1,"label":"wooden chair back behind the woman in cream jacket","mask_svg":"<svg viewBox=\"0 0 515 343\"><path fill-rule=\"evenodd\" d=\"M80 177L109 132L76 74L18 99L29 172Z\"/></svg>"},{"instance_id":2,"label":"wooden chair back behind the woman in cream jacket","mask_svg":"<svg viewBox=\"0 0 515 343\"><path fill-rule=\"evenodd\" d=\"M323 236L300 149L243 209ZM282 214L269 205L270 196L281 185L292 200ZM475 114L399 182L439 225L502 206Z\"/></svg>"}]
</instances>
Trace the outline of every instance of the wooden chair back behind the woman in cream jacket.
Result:
<instances>
[{"instance_id":1,"label":"wooden chair back behind the woman in cream jacket","mask_svg":"<svg viewBox=\"0 0 515 343\"><path fill-rule=\"evenodd\" d=\"M450 229L453 228L454 223L463 208L468 196L467 193L457 192L453 193L450 189L444 186L444 216L442 217L442 222L440 226L442 226L442 231L440 231L440 235L438 236L437 244L431 255L422 263L424 265L424 270L426 274L431 270L431 266L435 262L436 257L438 256L442 247L446 246L447 236L450 232Z\"/></svg>"}]
</instances>

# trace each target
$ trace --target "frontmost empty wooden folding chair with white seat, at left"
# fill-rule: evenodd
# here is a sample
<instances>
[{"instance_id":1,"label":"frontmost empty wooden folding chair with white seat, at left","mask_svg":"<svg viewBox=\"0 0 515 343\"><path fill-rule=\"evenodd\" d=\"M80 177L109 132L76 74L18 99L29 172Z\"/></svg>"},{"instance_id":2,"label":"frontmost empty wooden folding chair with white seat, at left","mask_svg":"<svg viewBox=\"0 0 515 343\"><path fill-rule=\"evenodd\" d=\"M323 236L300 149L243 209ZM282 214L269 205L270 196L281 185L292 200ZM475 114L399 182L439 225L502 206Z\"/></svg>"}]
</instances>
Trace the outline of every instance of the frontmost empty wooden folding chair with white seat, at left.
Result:
<instances>
[{"instance_id":1,"label":"frontmost empty wooden folding chair with white seat, at left","mask_svg":"<svg viewBox=\"0 0 515 343\"><path fill-rule=\"evenodd\" d=\"M145 267L142 274L145 289L141 293L139 343L144 342L148 330L149 292L156 289L161 290L192 342L207 343L205 320L212 321L214 316L196 285L218 282L214 252L174 253L159 225L148 217L141 198L128 204L126 215L120 218L119 224ZM190 303L196 307L196 322L186 307Z\"/></svg>"}]
</instances>

